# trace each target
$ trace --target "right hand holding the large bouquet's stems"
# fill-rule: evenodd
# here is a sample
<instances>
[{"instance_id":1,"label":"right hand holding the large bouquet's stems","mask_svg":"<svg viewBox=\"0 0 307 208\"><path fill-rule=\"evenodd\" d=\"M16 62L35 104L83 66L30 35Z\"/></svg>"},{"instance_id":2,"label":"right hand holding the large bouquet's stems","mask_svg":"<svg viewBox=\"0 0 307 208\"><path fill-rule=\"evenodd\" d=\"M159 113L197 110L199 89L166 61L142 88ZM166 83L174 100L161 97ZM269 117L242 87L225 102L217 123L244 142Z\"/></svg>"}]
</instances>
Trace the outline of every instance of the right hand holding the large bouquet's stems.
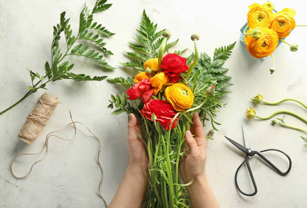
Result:
<instances>
[{"instance_id":1,"label":"right hand holding the large bouquet's stems","mask_svg":"<svg viewBox=\"0 0 307 208\"><path fill-rule=\"evenodd\" d=\"M189 146L189 153L184 155L180 161L180 175L184 183L194 179L194 182L205 179L205 162L207 158L207 141L203 125L199 119L198 113L193 115L194 125L191 125L191 132L185 132L185 140ZM193 137L193 135L195 137Z\"/></svg>"}]
</instances>

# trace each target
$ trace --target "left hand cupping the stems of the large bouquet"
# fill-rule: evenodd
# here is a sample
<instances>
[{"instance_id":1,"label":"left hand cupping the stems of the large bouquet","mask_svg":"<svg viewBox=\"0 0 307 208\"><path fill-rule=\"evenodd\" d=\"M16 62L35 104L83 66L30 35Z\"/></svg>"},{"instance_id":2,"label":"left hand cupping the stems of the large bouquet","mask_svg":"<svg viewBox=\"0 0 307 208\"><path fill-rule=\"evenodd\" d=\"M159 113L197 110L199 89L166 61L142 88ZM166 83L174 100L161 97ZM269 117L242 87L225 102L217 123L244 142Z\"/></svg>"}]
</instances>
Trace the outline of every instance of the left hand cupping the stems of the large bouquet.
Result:
<instances>
[{"instance_id":1,"label":"left hand cupping the stems of the large bouquet","mask_svg":"<svg viewBox=\"0 0 307 208\"><path fill-rule=\"evenodd\" d=\"M129 114L128 124L128 150L129 166L144 171L148 168L149 159L143 141L137 137L141 133L141 125L137 123L136 116Z\"/></svg>"}]
</instances>

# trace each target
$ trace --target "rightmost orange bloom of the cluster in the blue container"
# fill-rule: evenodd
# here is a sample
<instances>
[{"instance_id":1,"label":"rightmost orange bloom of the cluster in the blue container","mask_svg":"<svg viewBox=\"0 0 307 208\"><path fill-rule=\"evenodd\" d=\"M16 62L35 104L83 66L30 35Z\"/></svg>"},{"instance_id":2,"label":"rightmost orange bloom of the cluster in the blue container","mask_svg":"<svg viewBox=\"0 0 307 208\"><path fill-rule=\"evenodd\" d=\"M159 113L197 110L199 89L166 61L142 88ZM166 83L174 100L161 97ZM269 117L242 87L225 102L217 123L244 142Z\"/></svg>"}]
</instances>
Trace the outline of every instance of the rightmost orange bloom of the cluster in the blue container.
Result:
<instances>
[{"instance_id":1,"label":"rightmost orange bloom of the cluster in the blue container","mask_svg":"<svg viewBox=\"0 0 307 208\"><path fill-rule=\"evenodd\" d=\"M288 37L290 32L294 30L296 24L294 20L295 10L292 8L284 8L274 15L271 26L269 28L276 31L281 38Z\"/></svg>"}]
</instances>

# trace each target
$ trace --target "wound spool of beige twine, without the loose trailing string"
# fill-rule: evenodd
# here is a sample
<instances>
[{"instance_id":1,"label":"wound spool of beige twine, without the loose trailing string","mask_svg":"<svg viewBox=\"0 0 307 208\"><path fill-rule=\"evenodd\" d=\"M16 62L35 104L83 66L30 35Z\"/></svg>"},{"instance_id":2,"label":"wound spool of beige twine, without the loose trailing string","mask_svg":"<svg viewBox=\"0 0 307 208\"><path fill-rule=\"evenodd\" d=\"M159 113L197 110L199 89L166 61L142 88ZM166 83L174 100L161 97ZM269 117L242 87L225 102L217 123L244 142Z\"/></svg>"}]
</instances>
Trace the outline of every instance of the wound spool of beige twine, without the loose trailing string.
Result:
<instances>
[{"instance_id":1,"label":"wound spool of beige twine, without the loose trailing string","mask_svg":"<svg viewBox=\"0 0 307 208\"><path fill-rule=\"evenodd\" d=\"M52 115L52 112L54 112L56 105L58 105L58 98L47 93L40 96L40 98L38 98L38 103L36 103L36 106L30 112L29 116L26 117L26 122L19 131L19 139L27 144L31 144L35 141Z\"/></svg>"}]
</instances>

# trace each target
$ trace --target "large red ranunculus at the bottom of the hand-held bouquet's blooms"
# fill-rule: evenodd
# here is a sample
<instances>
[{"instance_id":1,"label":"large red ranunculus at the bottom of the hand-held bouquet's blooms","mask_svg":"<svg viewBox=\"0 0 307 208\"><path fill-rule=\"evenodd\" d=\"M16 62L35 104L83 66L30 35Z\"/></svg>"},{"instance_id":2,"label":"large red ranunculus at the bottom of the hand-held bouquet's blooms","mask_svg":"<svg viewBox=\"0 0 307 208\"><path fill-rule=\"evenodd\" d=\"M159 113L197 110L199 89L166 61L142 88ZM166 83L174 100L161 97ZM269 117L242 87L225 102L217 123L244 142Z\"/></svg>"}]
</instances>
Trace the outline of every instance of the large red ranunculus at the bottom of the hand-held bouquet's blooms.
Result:
<instances>
[{"instance_id":1,"label":"large red ranunculus at the bottom of the hand-held bouquet's blooms","mask_svg":"<svg viewBox=\"0 0 307 208\"><path fill-rule=\"evenodd\" d=\"M156 121L159 121L166 130L169 130L171 121L173 120L175 114L177 114L177 111L174 109L173 105L167 103L166 101L155 99L145 104L141 110L141 115L145 116L150 121L152 121L151 116L153 113L155 113L155 116L157 116ZM178 122L177 120L178 119L176 118L171 126L171 129L176 127Z\"/></svg>"}]
</instances>

